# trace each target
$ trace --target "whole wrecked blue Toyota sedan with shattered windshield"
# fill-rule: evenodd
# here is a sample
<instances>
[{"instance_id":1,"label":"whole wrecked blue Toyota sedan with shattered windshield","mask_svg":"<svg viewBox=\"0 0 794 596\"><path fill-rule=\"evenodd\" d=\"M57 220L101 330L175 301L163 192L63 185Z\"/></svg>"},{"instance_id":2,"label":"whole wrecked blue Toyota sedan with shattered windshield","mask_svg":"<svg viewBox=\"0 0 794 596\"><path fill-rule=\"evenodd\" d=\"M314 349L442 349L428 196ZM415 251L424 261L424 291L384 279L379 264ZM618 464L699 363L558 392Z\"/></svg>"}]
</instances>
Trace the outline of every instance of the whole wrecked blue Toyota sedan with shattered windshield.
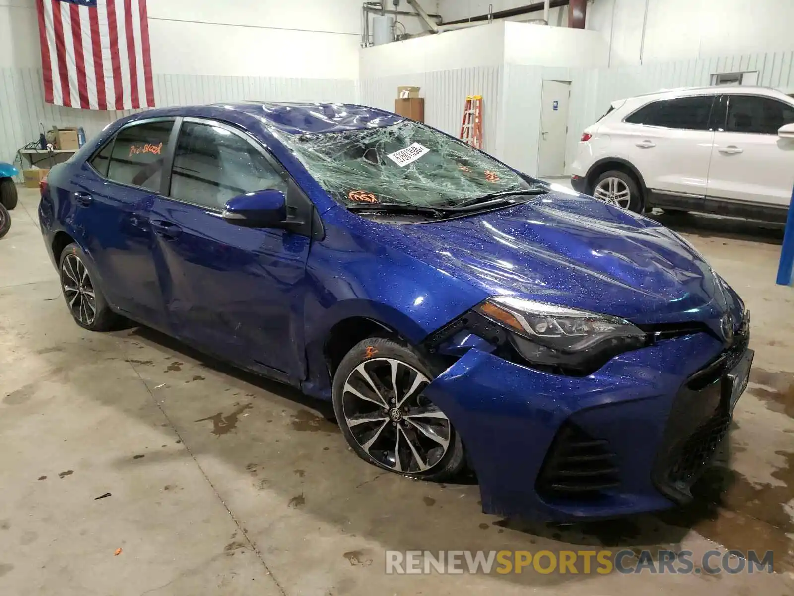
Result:
<instances>
[{"instance_id":1,"label":"whole wrecked blue Toyota sedan with shattered windshield","mask_svg":"<svg viewBox=\"0 0 794 596\"><path fill-rule=\"evenodd\" d=\"M75 322L332 400L361 459L487 513L665 509L726 434L742 300L683 238L363 106L122 118L42 184Z\"/></svg>"}]
</instances>

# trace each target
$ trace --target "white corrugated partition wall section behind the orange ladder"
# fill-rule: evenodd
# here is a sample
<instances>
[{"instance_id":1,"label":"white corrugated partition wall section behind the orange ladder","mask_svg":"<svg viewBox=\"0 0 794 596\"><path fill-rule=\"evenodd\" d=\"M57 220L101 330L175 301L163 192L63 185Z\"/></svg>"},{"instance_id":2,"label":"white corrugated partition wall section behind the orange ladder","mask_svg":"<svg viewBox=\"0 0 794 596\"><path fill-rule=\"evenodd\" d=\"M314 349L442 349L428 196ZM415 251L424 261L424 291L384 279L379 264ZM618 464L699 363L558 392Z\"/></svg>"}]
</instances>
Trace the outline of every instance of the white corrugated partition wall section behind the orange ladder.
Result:
<instances>
[{"instance_id":1,"label":"white corrugated partition wall section behind the orange ladder","mask_svg":"<svg viewBox=\"0 0 794 596\"><path fill-rule=\"evenodd\" d=\"M397 87L422 87L425 122L457 137L466 96L482 95L483 146L488 153L495 153L501 122L502 72L501 67L476 67L363 79L359 83L360 103L394 111Z\"/></svg>"}]
</instances>

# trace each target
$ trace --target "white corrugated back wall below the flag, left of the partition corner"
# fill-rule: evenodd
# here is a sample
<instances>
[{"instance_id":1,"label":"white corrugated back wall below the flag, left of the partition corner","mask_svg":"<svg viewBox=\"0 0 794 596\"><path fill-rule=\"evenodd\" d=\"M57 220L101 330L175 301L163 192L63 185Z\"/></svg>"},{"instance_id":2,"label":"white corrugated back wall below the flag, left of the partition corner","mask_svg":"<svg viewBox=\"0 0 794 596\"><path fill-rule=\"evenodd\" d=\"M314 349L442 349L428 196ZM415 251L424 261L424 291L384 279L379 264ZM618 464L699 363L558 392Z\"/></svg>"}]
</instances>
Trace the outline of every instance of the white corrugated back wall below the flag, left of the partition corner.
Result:
<instances>
[{"instance_id":1,"label":"white corrugated back wall below the flag, left of the partition corner","mask_svg":"<svg viewBox=\"0 0 794 596\"><path fill-rule=\"evenodd\" d=\"M283 79L241 76L156 75L157 106L264 99L286 102L356 103L357 82L337 79ZM17 149L35 141L39 122L83 126L91 138L123 112L78 110L44 103L40 68L0 69L0 161L14 161Z\"/></svg>"}]
</instances>

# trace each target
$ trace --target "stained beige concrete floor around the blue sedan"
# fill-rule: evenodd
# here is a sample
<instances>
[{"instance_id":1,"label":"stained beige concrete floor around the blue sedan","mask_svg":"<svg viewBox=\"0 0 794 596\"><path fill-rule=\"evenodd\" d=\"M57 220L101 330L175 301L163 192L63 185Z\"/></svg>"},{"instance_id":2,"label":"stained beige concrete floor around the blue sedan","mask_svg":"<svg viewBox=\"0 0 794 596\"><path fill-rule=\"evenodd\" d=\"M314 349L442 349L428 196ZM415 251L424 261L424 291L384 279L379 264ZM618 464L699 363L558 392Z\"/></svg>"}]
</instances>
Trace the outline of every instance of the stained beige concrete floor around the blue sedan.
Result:
<instances>
[{"instance_id":1,"label":"stained beige concrete floor around the blue sedan","mask_svg":"<svg viewBox=\"0 0 794 596\"><path fill-rule=\"evenodd\" d=\"M0 594L794 593L794 288L773 283L774 239L687 234L746 300L757 354L700 500L554 528L484 515L476 486L384 474L325 404L154 331L83 331L21 195L0 240ZM776 573L384 574L387 549L600 545L773 549Z\"/></svg>"}]
</instances>

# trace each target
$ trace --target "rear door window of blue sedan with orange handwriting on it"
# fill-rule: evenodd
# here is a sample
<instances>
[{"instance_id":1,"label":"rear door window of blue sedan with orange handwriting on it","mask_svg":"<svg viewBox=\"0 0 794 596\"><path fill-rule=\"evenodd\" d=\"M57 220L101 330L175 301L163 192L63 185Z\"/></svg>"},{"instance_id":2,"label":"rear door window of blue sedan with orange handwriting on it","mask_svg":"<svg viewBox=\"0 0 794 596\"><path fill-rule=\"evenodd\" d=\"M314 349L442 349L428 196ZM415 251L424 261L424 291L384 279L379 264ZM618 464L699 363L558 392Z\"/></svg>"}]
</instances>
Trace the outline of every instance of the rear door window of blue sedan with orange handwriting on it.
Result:
<instances>
[{"instance_id":1,"label":"rear door window of blue sedan with orange handwriting on it","mask_svg":"<svg viewBox=\"0 0 794 596\"><path fill-rule=\"evenodd\" d=\"M159 192L173 126L173 120L165 120L141 122L121 129L113 143L106 177ZM98 168L97 171L102 173Z\"/></svg>"}]
</instances>

